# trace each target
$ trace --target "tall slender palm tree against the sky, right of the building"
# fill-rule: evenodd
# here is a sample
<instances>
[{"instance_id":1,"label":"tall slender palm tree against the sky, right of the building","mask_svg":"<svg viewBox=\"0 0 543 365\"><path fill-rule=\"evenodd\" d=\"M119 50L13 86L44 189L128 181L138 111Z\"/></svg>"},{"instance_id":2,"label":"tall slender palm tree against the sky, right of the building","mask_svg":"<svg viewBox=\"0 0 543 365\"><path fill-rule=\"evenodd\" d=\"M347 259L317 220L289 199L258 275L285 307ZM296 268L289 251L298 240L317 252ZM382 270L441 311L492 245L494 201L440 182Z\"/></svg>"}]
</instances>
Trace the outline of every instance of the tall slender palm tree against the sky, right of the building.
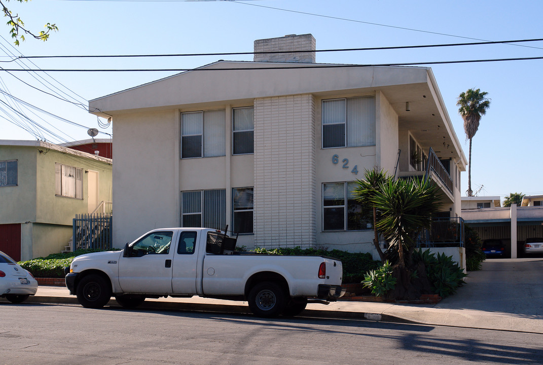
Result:
<instances>
[{"instance_id":1,"label":"tall slender palm tree against the sky, right of the building","mask_svg":"<svg viewBox=\"0 0 543 365\"><path fill-rule=\"evenodd\" d=\"M479 121L481 116L485 115L487 109L490 106L490 99L487 98L488 92L481 91L480 89L460 93L458 96L456 105L459 106L458 113L464 119L464 131L466 133L466 140L470 140L470 156L468 162L468 197L473 196L471 190L471 139L477 133L479 129Z\"/></svg>"}]
</instances>

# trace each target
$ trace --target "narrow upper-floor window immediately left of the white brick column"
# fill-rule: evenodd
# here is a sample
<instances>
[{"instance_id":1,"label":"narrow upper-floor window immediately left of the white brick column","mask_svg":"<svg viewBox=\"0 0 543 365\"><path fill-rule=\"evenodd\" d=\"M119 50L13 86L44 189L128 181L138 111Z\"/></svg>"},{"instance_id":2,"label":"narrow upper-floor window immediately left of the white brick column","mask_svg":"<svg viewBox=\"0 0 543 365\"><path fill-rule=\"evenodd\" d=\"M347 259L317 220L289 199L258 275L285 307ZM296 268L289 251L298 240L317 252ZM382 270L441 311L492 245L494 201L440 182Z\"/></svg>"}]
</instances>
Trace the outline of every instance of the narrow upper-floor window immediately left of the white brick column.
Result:
<instances>
[{"instance_id":1,"label":"narrow upper-floor window immediately left of the white brick column","mask_svg":"<svg viewBox=\"0 0 543 365\"><path fill-rule=\"evenodd\" d=\"M232 154L254 153L254 108L232 110Z\"/></svg>"}]
</instances>

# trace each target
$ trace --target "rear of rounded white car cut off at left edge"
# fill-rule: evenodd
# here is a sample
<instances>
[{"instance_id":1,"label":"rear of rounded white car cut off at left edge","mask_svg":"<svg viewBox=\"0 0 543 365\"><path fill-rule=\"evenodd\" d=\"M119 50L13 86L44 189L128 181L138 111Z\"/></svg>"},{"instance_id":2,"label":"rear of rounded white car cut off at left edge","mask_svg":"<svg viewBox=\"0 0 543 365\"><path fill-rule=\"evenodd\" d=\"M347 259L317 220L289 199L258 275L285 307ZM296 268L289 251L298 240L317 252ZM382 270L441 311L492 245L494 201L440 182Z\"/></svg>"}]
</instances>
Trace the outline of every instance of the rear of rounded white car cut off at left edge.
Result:
<instances>
[{"instance_id":1,"label":"rear of rounded white car cut off at left edge","mask_svg":"<svg viewBox=\"0 0 543 365\"><path fill-rule=\"evenodd\" d=\"M21 303L37 292L37 280L0 251L0 297L11 303Z\"/></svg>"}]
</instances>

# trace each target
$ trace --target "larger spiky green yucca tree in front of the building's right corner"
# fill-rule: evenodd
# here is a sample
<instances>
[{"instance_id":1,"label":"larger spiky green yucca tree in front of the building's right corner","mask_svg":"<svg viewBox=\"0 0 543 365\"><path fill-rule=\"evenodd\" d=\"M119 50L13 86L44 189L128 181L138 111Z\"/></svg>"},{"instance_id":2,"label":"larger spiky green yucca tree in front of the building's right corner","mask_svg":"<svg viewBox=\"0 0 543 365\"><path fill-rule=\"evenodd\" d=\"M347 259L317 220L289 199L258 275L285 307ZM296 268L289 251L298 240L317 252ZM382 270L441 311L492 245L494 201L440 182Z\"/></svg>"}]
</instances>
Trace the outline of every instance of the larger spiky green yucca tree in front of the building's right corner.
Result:
<instances>
[{"instance_id":1,"label":"larger spiky green yucca tree in front of the building's right corner","mask_svg":"<svg viewBox=\"0 0 543 365\"><path fill-rule=\"evenodd\" d=\"M441 206L438 191L430 180L387 179L370 198L380 211L376 227L396 246L400 267L405 267L404 250L410 256L415 248L414 237L431 228L432 215Z\"/></svg>"}]
</instances>

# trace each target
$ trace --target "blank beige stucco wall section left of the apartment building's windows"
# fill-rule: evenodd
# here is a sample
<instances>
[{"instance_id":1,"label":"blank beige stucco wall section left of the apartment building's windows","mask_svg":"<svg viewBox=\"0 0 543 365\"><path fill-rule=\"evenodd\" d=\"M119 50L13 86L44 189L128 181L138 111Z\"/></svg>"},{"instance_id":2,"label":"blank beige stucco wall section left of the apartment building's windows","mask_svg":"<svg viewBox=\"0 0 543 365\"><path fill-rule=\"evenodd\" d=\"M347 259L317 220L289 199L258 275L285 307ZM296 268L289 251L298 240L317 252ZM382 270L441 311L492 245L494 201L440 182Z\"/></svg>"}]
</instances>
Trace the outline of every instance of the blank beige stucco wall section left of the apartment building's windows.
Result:
<instances>
[{"instance_id":1,"label":"blank beige stucco wall section left of the apartment building's windows","mask_svg":"<svg viewBox=\"0 0 543 365\"><path fill-rule=\"evenodd\" d=\"M179 118L177 110L115 116L113 246L179 225Z\"/></svg>"}]
</instances>

